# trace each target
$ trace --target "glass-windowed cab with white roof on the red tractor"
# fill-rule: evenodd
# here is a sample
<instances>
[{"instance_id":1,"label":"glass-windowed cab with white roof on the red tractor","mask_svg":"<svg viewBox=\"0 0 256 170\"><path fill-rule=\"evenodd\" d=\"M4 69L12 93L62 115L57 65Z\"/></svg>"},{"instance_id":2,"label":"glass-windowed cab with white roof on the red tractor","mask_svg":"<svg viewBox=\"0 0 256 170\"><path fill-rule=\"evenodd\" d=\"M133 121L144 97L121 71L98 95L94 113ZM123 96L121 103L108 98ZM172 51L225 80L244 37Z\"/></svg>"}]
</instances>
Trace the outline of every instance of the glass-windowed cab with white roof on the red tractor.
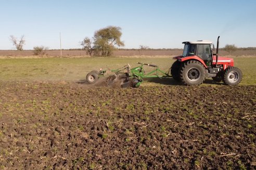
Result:
<instances>
[{"instance_id":1,"label":"glass-windowed cab with white roof on the red tractor","mask_svg":"<svg viewBox=\"0 0 256 170\"><path fill-rule=\"evenodd\" d=\"M199 41L185 41L182 57L186 56L198 56L203 60L207 66L212 64L212 50L211 41L199 40Z\"/></svg>"}]
</instances>

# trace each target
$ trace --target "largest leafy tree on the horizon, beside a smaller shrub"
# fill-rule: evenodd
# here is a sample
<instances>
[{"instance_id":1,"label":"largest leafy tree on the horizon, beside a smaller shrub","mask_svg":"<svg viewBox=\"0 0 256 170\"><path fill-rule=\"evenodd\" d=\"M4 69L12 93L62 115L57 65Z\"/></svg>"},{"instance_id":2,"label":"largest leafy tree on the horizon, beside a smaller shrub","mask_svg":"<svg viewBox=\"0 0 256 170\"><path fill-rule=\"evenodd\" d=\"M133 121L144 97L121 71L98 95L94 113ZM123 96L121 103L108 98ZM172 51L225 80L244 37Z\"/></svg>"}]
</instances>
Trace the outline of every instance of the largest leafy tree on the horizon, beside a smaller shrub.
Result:
<instances>
[{"instance_id":1,"label":"largest leafy tree on the horizon, beside a smaller shrub","mask_svg":"<svg viewBox=\"0 0 256 170\"><path fill-rule=\"evenodd\" d=\"M108 26L104 29L100 29L94 34L94 49L100 52L100 55L109 56L112 54L116 46L124 46L121 41L121 27Z\"/></svg>"}]
</instances>

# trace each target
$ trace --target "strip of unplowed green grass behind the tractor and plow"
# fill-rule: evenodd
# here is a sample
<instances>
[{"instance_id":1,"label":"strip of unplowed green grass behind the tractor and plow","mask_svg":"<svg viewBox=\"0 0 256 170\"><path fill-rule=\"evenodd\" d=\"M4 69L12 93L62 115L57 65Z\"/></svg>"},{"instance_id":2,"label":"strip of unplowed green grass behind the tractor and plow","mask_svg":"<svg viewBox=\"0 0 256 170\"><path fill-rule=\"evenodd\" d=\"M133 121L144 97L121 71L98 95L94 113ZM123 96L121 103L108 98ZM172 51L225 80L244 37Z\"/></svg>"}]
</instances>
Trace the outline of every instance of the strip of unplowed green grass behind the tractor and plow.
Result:
<instances>
[{"instance_id":1,"label":"strip of unplowed green grass behind the tractor and plow","mask_svg":"<svg viewBox=\"0 0 256 170\"><path fill-rule=\"evenodd\" d=\"M256 85L256 58L234 58L235 66L243 73L240 85ZM78 82L85 80L91 70L101 67L119 68L127 63L131 67L143 62L156 64L162 70L168 70L172 58L20 58L0 59L1 81L65 81ZM148 67L146 67L148 69ZM150 67L149 67L150 68ZM173 81L173 80L170 80ZM145 83L146 84L150 84ZM172 84L172 83L170 83Z\"/></svg>"}]
</instances>

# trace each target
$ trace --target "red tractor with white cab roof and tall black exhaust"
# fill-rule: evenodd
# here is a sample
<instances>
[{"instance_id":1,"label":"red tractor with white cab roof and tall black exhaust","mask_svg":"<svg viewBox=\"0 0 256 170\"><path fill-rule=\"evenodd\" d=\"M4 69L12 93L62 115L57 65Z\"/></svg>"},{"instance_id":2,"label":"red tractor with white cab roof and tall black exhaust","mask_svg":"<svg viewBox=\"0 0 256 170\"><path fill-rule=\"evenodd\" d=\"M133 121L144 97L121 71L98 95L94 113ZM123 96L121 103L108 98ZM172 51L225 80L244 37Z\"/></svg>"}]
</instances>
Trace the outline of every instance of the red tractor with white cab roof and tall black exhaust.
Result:
<instances>
[{"instance_id":1,"label":"red tractor with white cab roof and tall black exhaust","mask_svg":"<svg viewBox=\"0 0 256 170\"><path fill-rule=\"evenodd\" d=\"M175 56L171 67L171 75L187 86L199 85L206 77L214 81L224 81L227 85L236 85L242 79L242 72L234 67L234 60L218 56L219 38L217 38L216 54L213 54L211 41L185 41L183 55ZM213 45L214 48L214 45Z\"/></svg>"}]
</instances>

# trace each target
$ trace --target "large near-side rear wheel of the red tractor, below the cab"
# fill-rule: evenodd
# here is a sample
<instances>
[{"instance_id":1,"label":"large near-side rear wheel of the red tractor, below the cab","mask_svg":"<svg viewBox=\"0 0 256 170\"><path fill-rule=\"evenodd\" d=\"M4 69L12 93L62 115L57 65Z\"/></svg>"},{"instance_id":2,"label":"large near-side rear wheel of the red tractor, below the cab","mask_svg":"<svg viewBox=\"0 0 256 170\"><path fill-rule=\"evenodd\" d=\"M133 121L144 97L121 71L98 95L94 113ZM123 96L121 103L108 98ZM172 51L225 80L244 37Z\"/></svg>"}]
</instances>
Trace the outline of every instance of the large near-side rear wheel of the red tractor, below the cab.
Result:
<instances>
[{"instance_id":1,"label":"large near-side rear wheel of the red tractor, below the cab","mask_svg":"<svg viewBox=\"0 0 256 170\"><path fill-rule=\"evenodd\" d=\"M180 79L186 86L200 85L206 78L206 68L199 61L185 62L180 70Z\"/></svg>"}]
</instances>

